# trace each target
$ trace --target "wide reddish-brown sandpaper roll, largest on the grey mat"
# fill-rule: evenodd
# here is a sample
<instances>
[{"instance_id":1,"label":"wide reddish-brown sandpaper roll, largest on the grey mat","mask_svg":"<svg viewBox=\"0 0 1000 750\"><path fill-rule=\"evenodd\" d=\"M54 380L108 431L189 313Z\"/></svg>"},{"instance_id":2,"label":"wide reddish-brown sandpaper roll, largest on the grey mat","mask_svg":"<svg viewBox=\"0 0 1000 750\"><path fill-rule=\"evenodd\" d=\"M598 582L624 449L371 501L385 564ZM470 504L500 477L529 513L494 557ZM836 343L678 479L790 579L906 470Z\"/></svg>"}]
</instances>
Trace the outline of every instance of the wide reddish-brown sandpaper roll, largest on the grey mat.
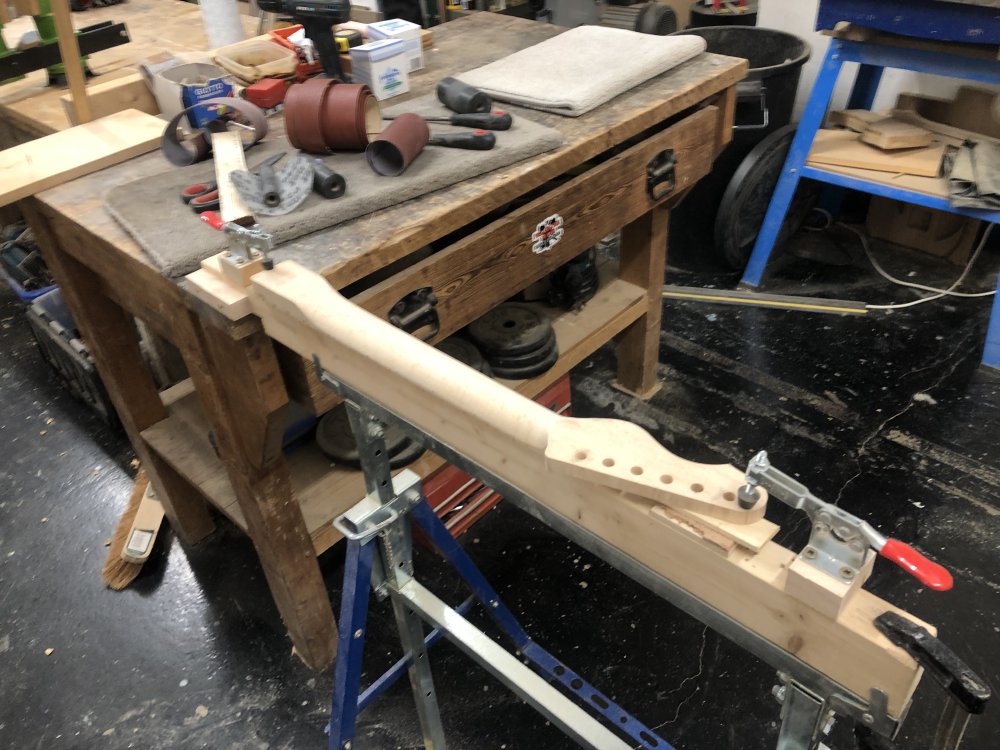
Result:
<instances>
[{"instance_id":1,"label":"wide reddish-brown sandpaper roll, largest on the grey mat","mask_svg":"<svg viewBox=\"0 0 1000 750\"><path fill-rule=\"evenodd\" d=\"M288 88L285 130L302 151L363 151L381 129L378 100L363 84L310 78Z\"/></svg>"}]
</instances>

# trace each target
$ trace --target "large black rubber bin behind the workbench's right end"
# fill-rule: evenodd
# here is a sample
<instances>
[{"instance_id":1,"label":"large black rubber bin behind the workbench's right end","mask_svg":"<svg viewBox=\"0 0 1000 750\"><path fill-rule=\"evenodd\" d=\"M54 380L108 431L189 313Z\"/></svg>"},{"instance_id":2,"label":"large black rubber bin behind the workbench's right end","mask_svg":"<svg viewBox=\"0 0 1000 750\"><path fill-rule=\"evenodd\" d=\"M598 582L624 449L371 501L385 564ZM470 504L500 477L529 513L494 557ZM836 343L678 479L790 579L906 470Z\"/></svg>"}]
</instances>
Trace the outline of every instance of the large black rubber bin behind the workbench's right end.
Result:
<instances>
[{"instance_id":1,"label":"large black rubber bin behind the workbench's right end","mask_svg":"<svg viewBox=\"0 0 1000 750\"><path fill-rule=\"evenodd\" d=\"M794 34L756 26L707 26L676 32L680 34L696 34L708 43L709 52L743 57L750 64L737 89L732 142L670 217L670 255L675 263L696 269L706 256L725 262L714 246L719 199L750 150L791 121L799 76L811 50Z\"/></svg>"}]
</instances>

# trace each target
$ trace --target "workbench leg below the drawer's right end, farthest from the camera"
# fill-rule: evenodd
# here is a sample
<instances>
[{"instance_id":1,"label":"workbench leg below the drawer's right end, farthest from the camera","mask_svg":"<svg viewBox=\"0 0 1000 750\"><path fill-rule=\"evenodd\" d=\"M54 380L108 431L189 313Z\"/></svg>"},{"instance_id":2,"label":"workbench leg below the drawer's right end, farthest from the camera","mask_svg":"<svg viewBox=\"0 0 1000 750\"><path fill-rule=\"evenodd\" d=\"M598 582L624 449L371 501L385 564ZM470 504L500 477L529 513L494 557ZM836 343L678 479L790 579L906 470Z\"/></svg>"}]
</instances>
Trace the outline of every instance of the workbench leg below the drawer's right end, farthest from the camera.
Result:
<instances>
[{"instance_id":1,"label":"workbench leg below the drawer's right end, farthest from the camera","mask_svg":"<svg viewBox=\"0 0 1000 750\"><path fill-rule=\"evenodd\" d=\"M660 321L670 211L657 207L622 229L619 276L646 290L646 312L618 339L617 387L639 398L660 390Z\"/></svg>"}]
</instances>

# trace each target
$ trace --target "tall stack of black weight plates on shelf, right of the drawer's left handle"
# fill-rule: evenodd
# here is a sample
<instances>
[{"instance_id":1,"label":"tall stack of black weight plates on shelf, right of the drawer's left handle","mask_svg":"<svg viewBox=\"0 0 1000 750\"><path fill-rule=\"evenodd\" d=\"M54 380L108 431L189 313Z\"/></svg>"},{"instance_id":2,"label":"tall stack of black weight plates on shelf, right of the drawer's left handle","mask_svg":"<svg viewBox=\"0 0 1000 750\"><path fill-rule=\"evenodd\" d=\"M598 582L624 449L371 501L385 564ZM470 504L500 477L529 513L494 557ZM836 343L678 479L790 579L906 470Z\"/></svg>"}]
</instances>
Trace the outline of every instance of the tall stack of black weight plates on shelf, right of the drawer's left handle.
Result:
<instances>
[{"instance_id":1,"label":"tall stack of black weight plates on shelf, right of the drawer's left handle","mask_svg":"<svg viewBox=\"0 0 1000 750\"><path fill-rule=\"evenodd\" d=\"M471 323L466 332L498 378L533 378L559 359L552 323L530 305L506 302Z\"/></svg>"}]
</instances>

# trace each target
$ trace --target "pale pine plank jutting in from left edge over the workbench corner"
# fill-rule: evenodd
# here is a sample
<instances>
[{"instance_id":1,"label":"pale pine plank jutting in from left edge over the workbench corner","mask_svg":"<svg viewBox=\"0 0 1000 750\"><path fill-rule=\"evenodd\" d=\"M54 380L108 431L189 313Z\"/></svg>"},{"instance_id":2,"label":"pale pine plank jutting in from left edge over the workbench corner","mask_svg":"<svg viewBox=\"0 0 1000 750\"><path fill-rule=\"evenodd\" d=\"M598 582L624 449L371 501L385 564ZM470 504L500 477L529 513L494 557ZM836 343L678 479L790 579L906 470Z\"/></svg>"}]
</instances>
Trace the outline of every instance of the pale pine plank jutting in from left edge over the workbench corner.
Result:
<instances>
[{"instance_id":1,"label":"pale pine plank jutting in from left edge over the workbench corner","mask_svg":"<svg viewBox=\"0 0 1000 750\"><path fill-rule=\"evenodd\" d=\"M0 151L0 206L155 150L164 123L127 109Z\"/></svg>"}]
</instances>

